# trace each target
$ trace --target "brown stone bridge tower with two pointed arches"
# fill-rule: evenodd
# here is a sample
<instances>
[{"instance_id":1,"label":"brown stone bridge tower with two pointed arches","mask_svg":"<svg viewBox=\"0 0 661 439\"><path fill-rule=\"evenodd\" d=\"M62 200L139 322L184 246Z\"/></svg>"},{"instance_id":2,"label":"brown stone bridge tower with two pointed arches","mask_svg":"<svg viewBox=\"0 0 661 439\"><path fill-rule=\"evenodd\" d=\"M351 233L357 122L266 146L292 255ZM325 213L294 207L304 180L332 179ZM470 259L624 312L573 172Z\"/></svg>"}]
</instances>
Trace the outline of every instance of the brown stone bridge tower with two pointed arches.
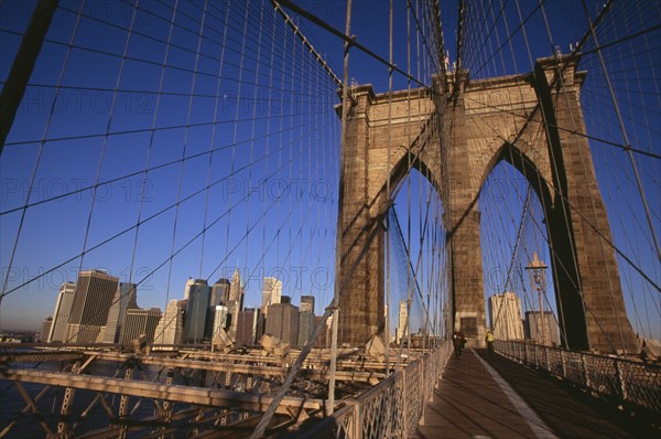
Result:
<instances>
[{"instance_id":1,"label":"brown stone bridge tower with two pointed arches","mask_svg":"<svg viewBox=\"0 0 661 439\"><path fill-rule=\"evenodd\" d=\"M488 244L480 242L478 199L505 160L544 210L562 344L639 351L585 136L579 92L586 73L577 63L578 56L553 56L538 60L528 74L476 81L467 72L451 73L447 90L438 78L434 90L376 95L370 85L351 88L339 186L342 344L383 335L387 191L415 168L444 208L452 325L481 345L481 245Z\"/></svg>"}]
</instances>

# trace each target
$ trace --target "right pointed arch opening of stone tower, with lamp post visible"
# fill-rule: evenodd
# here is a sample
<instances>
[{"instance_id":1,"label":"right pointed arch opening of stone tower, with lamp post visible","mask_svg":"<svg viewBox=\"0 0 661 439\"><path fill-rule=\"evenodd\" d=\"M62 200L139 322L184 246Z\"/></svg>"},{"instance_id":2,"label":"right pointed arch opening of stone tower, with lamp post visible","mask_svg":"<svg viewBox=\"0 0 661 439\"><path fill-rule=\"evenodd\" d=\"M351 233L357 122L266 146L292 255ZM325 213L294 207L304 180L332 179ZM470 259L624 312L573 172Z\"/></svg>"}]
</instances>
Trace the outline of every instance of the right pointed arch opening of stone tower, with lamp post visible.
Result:
<instances>
[{"instance_id":1,"label":"right pointed arch opening of stone tower, with lamp post visible","mask_svg":"<svg viewBox=\"0 0 661 439\"><path fill-rule=\"evenodd\" d=\"M564 344L549 184L529 157L505 143L485 170L478 205L487 328L499 340Z\"/></svg>"}]
</instances>

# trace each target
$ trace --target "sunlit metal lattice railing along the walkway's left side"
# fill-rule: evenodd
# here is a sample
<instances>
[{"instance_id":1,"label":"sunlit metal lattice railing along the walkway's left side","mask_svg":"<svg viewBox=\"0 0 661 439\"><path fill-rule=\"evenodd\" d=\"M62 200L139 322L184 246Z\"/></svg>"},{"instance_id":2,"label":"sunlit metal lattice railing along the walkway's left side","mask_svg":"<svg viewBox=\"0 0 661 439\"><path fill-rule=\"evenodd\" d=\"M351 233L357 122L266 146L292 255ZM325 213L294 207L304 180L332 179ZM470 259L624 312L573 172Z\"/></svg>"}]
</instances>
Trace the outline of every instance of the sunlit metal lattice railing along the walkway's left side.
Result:
<instances>
[{"instance_id":1,"label":"sunlit metal lattice railing along the walkway's left side","mask_svg":"<svg viewBox=\"0 0 661 439\"><path fill-rule=\"evenodd\" d=\"M452 353L444 342L302 432L303 438L408 438L424 422L424 407Z\"/></svg>"}]
</instances>

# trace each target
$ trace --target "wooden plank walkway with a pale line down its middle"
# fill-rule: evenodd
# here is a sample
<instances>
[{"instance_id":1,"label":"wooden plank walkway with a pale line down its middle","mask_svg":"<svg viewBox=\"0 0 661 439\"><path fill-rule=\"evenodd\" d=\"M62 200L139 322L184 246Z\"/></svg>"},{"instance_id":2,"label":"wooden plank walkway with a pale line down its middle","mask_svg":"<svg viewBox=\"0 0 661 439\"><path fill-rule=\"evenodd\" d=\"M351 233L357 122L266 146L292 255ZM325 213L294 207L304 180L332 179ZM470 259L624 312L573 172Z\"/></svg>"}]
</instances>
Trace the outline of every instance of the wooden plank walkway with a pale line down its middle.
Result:
<instances>
[{"instance_id":1,"label":"wooden plank walkway with a pale line down its middle","mask_svg":"<svg viewBox=\"0 0 661 439\"><path fill-rule=\"evenodd\" d=\"M637 431L621 418L534 371L484 350L468 350L463 358L448 361L414 437L640 438L652 433Z\"/></svg>"}]
</instances>

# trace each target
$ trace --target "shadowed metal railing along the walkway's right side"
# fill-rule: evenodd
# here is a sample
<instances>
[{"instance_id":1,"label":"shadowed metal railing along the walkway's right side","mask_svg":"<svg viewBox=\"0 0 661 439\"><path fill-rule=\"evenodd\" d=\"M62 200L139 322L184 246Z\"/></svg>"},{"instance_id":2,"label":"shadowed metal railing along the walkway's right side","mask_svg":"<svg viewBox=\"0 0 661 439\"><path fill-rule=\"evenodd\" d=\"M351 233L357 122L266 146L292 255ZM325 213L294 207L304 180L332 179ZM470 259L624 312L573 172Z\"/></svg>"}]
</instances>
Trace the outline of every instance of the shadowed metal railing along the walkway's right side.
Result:
<instances>
[{"instance_id":1,"label":"shadowed metal railing along the walkway's right side","mask_svg":"<svg viewBox=\"0 0 661 439\"><path fill-rule=\"evenodd\" d=\"M496 341L496 352L628 408L661 416L661 366L532 343Z\"/></svg>"}]
</instances>

